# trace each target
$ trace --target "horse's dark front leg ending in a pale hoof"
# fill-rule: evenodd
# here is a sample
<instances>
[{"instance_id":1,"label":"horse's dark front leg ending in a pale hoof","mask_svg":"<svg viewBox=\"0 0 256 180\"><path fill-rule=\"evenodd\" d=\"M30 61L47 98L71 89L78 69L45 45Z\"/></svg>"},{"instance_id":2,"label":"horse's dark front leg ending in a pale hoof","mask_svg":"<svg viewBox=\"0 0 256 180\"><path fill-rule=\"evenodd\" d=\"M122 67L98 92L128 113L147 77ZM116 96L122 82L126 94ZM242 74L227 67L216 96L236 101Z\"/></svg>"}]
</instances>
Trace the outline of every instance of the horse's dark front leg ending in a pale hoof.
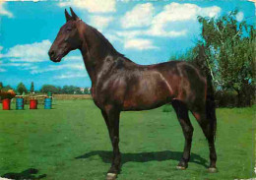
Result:
<instances>
[{"instance_id":1,"label":"horse's dark front leg ending in a pale hoof","mask_svg":"<svg viewBox=\"0 0 256 180\"><path fill-rule=\"evenodd\" d=\"M121 153L119 150L119 117L120 111L113 108L107 107L101 111L102 116L105 120L110 141L113 148L112 164L107 172L106 180L114 180L117 177L121 167Z\"/></svg>"}]
</instances>

